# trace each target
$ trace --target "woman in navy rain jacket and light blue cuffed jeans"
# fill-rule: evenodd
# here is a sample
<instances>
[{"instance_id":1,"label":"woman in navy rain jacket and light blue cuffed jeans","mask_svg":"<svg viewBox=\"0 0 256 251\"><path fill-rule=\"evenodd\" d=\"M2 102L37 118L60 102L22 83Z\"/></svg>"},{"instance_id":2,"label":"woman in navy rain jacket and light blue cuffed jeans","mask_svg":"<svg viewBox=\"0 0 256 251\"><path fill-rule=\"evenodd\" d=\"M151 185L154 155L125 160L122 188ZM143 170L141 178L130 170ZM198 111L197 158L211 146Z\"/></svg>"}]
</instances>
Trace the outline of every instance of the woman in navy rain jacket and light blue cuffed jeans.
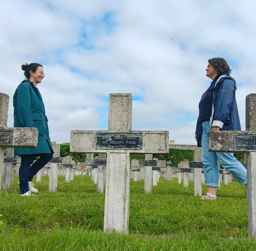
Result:
<instances>
[{"instance_id":1,"label":"woman in navy rain jacket and light blue cuffed jeans","mask_svg":"<svg viewBox=\"0 0 256 251\"><path fill-rule=\"evenodd\" d=\"M202 163L207 186L207 193L202 199L216 199L219 186L218 160L240 185L247 184L246 169L233 153L208 152L207 135L210 130L241 130L236 102L236 81L230 77L230 73L225 59L208 60L206 76L210 77L212 82L199 102L195 133L197 147L202 147Z\"/></svg>"}]
</instances>

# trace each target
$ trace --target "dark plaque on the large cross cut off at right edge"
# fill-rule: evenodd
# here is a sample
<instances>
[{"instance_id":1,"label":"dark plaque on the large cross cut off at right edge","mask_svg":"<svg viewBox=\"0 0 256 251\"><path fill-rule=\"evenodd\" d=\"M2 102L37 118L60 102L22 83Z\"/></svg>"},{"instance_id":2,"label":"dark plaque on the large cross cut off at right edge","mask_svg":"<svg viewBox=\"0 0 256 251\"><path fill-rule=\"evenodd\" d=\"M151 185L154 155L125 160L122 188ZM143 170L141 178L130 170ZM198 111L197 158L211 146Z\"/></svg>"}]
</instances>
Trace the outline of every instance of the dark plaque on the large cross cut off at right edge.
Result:
<instances>
[{"instance_id":1,"label":"dark plaque on the large cross cut off at right edge","mask_svg":"<svg viewBox=\"0 0 256 251\"><path fill-rule=\"evenodd\" d=\"M235 151L256 151L256 135L235 135Z\"/></svg>"}]
</instances>

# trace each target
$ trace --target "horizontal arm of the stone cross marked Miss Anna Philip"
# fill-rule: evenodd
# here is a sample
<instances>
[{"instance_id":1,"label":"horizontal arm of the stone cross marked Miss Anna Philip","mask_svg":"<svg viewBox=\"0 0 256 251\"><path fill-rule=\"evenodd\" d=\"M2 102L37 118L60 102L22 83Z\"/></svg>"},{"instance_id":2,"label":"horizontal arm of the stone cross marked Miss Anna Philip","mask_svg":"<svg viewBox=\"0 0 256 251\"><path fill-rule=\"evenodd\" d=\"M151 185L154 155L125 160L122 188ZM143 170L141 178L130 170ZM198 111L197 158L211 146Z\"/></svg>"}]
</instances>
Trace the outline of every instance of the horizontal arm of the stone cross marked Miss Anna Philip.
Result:
<instances>
[{"instance_id":1,"label":"horizontal arm of the stone cross marked Miss Anna Philip","mask_svg":"<svg viewBox=\"0 0 256 251\"><path fill-rule=\"evenodd\" d=\"M98 140L101 140L101 142L98 142ZM134 146L131 147L130 143L134 144ZM125 151L130 153L168 153L169 132L132 130L129 132L117 133L110 130L73 130L70 135L70 151L85 153L112 151Z\"/></svg>"}]
</instances>

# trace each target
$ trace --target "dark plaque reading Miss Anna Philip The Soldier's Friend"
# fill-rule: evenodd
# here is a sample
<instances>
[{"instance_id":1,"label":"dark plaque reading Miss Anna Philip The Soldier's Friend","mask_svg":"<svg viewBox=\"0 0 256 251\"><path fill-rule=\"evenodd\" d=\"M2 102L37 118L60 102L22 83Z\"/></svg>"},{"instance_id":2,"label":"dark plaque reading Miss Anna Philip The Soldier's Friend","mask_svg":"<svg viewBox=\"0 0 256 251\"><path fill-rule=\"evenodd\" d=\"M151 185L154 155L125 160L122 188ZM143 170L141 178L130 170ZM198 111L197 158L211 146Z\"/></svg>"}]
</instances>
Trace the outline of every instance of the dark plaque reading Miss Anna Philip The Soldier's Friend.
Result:
<instances>
[{"instance_id":1,"label":"dark plaque reading Miss Anna Philip The Soldier's Friend","mask_svg":"<svg viewBox=\"0 0 256 251\"><path fill-rule=\"evenodd\" d=\"M142 149L142 135L96 134L95 149Z\"/></svg>"}]
</instances>

